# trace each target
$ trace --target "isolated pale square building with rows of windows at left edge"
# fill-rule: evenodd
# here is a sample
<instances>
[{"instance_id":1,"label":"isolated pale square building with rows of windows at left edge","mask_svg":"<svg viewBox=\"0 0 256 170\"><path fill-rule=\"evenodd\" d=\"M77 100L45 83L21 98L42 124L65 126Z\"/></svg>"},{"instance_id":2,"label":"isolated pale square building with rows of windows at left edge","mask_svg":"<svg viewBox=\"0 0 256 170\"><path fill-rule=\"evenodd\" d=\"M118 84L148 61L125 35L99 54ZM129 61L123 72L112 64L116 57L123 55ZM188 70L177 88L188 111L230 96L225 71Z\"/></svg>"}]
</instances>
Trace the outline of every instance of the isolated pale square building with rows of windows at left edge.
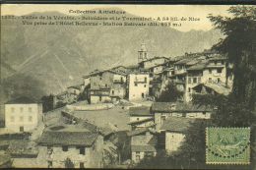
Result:
<instances>
[{"instance_id":1,"label":"isolated pale square building with rows of windows at left edge","mask_svg":"<svg viewBox=\"0 0 256 170\"><path fill-rule=\"evenodd\" d=\"M29 132L42 121L42 104L20 97L5 104L5 127L13 132Z\"/></svg>"}]
</instances>

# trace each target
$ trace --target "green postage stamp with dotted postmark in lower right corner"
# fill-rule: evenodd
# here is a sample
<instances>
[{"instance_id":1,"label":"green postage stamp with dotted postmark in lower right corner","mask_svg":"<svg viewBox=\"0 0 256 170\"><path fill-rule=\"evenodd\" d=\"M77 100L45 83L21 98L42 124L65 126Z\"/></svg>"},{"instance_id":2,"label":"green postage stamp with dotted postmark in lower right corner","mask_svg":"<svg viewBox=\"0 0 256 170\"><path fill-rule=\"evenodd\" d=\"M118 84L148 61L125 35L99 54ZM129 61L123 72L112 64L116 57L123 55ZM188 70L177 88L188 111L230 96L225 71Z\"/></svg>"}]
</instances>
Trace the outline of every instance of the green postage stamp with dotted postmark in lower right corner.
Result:
<instances>
[{"instance_id":1,"label":"green postage stamp with dotted postmark in lower right corner","mask_svg":"<svg viewBox=\"0 0 256 170\"><path fill-rule=\"evenodd\" d=\"M207 164L249 164L250 128L207 128Z\"/></svg>"}]
</instances>

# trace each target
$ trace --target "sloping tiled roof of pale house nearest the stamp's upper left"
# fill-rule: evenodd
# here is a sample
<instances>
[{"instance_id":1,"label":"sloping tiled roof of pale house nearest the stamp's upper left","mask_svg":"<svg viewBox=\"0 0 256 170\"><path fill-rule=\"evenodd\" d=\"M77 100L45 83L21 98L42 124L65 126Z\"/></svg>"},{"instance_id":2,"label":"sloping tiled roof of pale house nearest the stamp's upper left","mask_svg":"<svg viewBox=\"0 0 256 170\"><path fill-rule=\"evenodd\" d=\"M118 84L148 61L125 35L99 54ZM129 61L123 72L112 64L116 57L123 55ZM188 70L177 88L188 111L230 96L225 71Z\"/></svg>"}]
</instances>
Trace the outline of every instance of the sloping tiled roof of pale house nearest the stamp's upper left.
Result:
<instances>
[{"instance_id":1,"label":"sloping tiled roof of pale house nearest the stamp's upper left","mask_svg":"<svg viewBox=\"0 0 256 170\"><path fill-rule=\"evenodd\" d=\"M185 132L196 119L183 117L168 117L161 125L160 130L171 132Z\"/></svg>"}]
</instances>

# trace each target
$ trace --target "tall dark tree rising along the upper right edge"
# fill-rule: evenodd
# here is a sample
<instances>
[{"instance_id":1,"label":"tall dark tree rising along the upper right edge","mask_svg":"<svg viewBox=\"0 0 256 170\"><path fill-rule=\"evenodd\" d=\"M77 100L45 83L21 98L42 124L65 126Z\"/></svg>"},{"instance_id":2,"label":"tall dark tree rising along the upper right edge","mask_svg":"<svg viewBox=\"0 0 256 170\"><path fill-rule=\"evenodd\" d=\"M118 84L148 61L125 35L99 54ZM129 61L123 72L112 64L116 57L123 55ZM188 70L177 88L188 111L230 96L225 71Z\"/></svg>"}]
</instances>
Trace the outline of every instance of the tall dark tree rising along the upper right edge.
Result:
<instances>
[{"instance_id":1,"label":"tall dark tree rising along the upper right edge","mask_svg":"<svg viewBox=\"0 0 256 170\"><path fill-rule=\"evenodd\" d=\"M256 102L256 7L230 7L233 17L209 18L225 37L213 48L227 55L233 65L233 94L237 102L245 102L255 109ZM228 64L227 63L227 64Z\"/></svg>"}]
</instances>

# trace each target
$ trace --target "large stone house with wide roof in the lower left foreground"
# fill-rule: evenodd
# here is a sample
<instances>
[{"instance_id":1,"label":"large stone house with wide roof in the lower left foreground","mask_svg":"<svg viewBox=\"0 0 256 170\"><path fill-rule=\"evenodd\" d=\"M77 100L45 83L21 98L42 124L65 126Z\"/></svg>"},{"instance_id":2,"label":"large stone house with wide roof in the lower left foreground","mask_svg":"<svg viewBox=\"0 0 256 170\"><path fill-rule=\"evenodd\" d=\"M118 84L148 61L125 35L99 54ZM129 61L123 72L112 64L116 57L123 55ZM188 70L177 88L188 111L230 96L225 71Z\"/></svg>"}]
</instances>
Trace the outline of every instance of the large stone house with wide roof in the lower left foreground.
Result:
<instances>
[{"instance_id":1,"label":"large stone house with wide roof in the lower left foreground","mask_svg":"<svg viewBox=\"0 0 256 170\"><path fill-rule=\"evenodd\" d=\"M48 127L38 140L41 167L64 168L70 160L74 168L101 168L103 137L83 126L55 125Z\"/></svg>"}]
</instances>

